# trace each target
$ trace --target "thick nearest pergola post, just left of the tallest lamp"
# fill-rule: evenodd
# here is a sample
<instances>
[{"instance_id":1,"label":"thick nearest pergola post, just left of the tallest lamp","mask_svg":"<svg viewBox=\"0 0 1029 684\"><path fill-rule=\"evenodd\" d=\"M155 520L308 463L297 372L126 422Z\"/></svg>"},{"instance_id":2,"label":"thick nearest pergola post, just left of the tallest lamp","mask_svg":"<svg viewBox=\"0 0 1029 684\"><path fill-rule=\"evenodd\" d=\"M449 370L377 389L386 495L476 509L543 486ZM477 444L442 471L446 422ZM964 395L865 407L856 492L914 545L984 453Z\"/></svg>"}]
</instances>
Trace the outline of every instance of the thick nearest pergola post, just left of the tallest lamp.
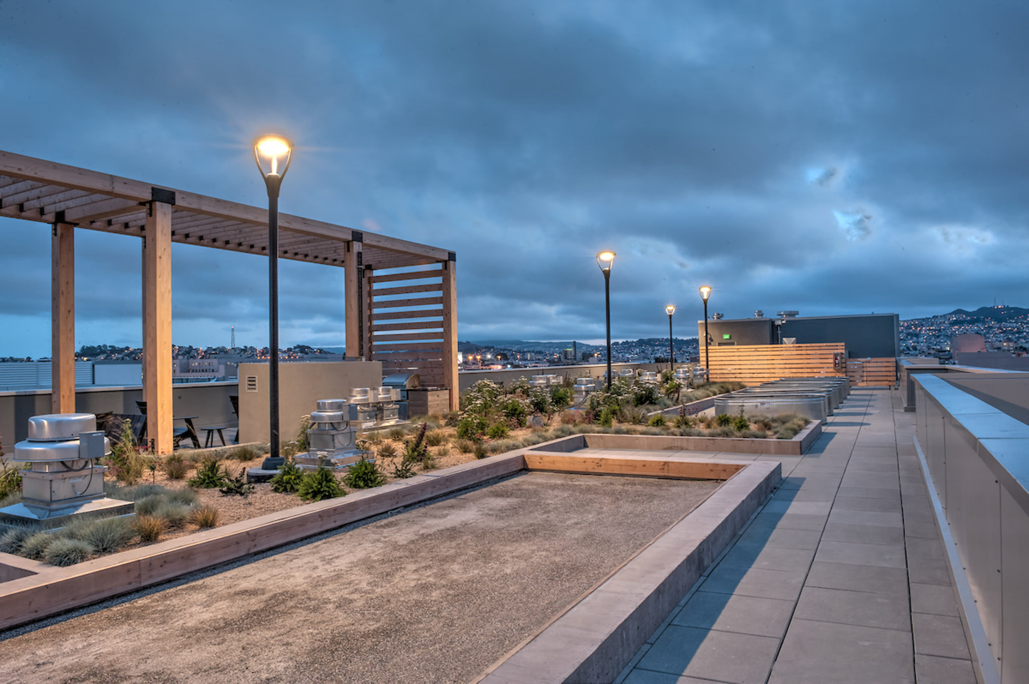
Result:
<instances>
[{"instance_id":1,"label":"thick nearest pergola post, just left of the tallest lamp","mask_svg":"<svg viewBox=\"0 0 1029 684\"><path fill-rule=\"evenodd\" d=\"M172 443L172 206L150 202L143 273L146 427L154 454Z\"/></svg>"}]
</instances>

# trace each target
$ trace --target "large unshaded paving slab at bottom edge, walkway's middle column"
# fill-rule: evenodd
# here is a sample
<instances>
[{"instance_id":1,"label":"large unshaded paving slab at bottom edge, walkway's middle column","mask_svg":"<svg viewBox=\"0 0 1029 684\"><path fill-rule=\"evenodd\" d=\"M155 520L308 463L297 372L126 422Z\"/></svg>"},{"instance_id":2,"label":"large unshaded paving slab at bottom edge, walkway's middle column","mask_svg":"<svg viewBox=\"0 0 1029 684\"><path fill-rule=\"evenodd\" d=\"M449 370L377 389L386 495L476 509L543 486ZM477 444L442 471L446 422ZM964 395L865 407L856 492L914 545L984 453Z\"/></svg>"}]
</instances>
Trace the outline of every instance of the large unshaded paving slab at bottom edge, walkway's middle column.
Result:
<instances>
[{"instance_id":1,"label":"large unshaded paving slab at bottom edge, walkway's middle column","mask_svg":"<svg viewBox=\"0 0 1029 684\"><path fill-rule=\"evenodd\" d=\"M770 684L913 684L911 633L794 618Z\"/></svg>"}]
</instances>

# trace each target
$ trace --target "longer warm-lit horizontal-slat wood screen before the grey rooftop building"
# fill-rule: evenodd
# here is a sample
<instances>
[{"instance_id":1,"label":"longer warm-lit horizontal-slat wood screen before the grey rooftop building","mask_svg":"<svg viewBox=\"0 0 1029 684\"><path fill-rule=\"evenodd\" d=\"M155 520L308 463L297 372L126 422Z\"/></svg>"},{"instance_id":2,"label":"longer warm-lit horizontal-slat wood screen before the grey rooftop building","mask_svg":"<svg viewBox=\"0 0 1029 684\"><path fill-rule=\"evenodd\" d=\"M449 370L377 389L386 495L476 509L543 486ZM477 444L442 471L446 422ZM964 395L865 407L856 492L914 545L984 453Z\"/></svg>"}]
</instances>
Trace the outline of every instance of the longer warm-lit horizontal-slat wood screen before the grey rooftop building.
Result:
<instances>
[{"instance_id":1,"label":"longer warm-lit horizontal-slat wood screen before the grey rooftop building","mask_svg":"<svg viewBox=\"0 0 1029 684\"><path fill-rule=\"evenodd\" d=\"M708 352L711 358L708 375L714 383L759 385L783 377L844 374L842 367L836 367L836 355L845 353L843 343L709 347Z\"/></svg>"}]
</instances>

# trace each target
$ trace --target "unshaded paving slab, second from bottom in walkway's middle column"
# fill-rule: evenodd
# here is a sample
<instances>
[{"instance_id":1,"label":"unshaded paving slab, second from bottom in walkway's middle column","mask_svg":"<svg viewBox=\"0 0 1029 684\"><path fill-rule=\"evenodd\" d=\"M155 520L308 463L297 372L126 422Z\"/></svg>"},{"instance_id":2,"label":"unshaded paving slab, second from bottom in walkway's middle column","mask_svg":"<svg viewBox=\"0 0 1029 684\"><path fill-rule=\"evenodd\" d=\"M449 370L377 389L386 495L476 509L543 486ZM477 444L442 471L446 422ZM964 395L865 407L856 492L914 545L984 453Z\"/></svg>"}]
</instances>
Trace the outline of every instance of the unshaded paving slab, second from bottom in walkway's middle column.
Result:
<instances>
[{"instance_id":1,"label":"unshaded paving slab, second from bottom in walkway's middle column","mask_svg":"<svg viewBox=\"0 0 1029 684\"><path fill-rule=\"evenodd\" d=\"M794 617L865 627L911 631L908 603L887 593L806 586Z\"/></svg>"}]
</instances>

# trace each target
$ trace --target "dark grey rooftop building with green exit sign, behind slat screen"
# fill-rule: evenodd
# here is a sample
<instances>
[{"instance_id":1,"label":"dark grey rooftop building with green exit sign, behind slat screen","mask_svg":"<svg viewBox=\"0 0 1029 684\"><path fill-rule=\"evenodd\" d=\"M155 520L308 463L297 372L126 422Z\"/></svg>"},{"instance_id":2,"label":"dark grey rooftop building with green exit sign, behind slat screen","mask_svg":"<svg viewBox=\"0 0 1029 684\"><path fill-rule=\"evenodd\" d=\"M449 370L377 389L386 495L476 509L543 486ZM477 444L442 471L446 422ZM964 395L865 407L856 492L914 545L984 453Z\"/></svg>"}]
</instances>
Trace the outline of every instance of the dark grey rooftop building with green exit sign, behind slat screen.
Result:
<instances>
[{"instance_id":1,"label":"dark grey rooftop building with green exit sign, behind slat screen","mask_svg":"<svg viewBox=\"0 0 1029 684\"><path fill-rule=\"evenodd\" d=\"M850 358L886 358L900 355L900 319L896 314L811 316L784 312L779 318L742 318L708 321L708 344L713 347L744 345L810 345L843 343ZM704 321L698 321L704 348Z\"/></svg>"}]
</instances>

